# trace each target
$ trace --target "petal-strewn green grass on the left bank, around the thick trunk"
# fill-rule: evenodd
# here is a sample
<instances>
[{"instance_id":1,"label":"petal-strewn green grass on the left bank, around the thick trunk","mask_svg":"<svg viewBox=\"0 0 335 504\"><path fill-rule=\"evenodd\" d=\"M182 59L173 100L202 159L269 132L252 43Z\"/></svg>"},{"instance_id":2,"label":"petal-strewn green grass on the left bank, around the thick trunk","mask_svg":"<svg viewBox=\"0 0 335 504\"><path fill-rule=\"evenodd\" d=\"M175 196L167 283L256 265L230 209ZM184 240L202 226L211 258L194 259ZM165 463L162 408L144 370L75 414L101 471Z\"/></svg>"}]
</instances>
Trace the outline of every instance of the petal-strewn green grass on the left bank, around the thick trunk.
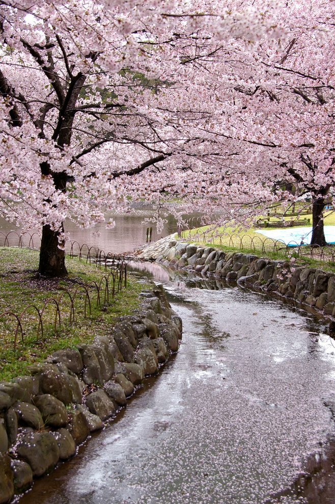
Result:
<instances>
[{"instance_id":1,"label":"petal-strewn green grass on the left bank, around the thick trunk","mask_svg":"<svg viewBox=\"0 0 335 504\"><path fill-rule=\"evenodd\" d=\"M139 292L143 285L131 277L127 278L127 288L122 289L115 298L109 296L104 303L105 280L100 293L101 307L97 306L96 288L89 290L91 314L86 291L92 281L99 285L108 273L100 271L94 264L86 264L78 258L67 257L69 276L62 279L41 279L37 276L39 252L16 247L0 248L0 314L11 311L18 317L28 305L34 304L41 312L47 299L59 300L64 290L73 297L75 322L70 324L71 303L68 295L60 302L61 326L55 330L56 304L52 301L43 313L43 336L38 334L39 316L35 308L29 308L22 316L23 341L20 330L17 333L17 347L14 351L14 336L17 320L12 315L0 319L0 380L10 380L18 375L29 374L27 368L34 362L41 362L56 350L75 347L80 342L91 342L98 334L108 334L115 324L116 317L131 313L139 305ZM111 278L109 291L113 288ZM73 322L73 321L71 321Z\"/></svg>"}]
</instances>

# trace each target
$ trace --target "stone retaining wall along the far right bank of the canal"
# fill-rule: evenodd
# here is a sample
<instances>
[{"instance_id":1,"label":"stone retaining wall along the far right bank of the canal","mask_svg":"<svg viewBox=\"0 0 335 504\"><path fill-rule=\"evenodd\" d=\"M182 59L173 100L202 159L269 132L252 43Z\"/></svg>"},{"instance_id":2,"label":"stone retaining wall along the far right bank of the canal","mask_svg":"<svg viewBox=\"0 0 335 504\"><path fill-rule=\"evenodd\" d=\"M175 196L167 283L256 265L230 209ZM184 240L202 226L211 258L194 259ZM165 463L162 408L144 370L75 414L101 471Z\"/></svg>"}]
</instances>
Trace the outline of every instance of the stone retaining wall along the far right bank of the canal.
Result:
<instances>
[{"instance_id":1,"label":"stone retaining wall along the far right bank of the canal","mask_svg":"<svg viewBox=\"0 0 335 504\"><path fill-rule=\"evenodd\" d=\"M167 236L150 244L138 256L166 266L195 271L202 276L225 278L260 287L335 316L335 274L316 268L294 266L242 252L222 252Z\"/></svg>"}]
</instances>

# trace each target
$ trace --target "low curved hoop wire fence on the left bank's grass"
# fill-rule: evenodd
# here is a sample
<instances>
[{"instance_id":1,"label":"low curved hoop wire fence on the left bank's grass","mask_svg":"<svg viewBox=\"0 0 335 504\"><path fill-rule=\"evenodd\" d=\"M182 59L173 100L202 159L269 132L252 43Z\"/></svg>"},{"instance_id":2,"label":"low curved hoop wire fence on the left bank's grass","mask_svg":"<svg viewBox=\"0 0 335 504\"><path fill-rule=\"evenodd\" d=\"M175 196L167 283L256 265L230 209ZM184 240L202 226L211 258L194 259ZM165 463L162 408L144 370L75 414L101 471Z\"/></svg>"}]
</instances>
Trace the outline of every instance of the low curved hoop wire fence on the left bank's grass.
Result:
<instances>
[{"instance_id":1,"label":"low curved hoop wire fence on the left bank's grass","mask_svg":"<svg viewBox=\"0 0 335 504\"><path fill-rule=\"evenodd\" d=\"M36 235L36 236L35 236ZM16 246L36 248L40 243L37 233L22 233L10 231L5 234L0 231L0 246ZM37 326L37 340L45 335L45 324L53 317L53 331L61 329L67 321L71 326L75 324L78 310L86 317L92 313L93 304L96 308L108 305L116 294L127 286L127 266L123 257L105 253L96 247L87 244L80 245L77 241L70 242L70 257L78 256L80 261L95 263L96 267L103 270L104 274L100 281L91 281L85 285L80 283L74 291L61 288L59 297L51 296L44 302L42 307L36 304L27 305L20 313L5 310L0 313L0 322L4 324L7 333L13 333L13 349L16 350L18 337L24 342L27 326ZM52 315L52 309L54 315ZM10 323L9 320L14 321Z\"/></svg>"}]
</instances>

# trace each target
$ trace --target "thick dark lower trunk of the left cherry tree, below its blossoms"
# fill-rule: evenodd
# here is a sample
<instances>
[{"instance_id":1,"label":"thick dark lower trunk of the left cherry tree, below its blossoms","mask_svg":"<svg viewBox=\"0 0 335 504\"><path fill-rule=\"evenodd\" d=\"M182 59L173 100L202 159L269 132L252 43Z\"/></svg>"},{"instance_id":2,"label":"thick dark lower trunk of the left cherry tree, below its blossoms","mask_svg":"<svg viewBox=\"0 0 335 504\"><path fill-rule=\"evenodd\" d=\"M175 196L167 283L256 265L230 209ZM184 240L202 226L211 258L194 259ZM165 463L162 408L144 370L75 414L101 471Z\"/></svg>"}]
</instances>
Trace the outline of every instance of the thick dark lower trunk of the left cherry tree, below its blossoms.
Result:
<instances>
[{"instance_id":1,"label":"thick dark lower trunk of the left cherry tree, below its blossoms","mask_svg":"<svg viewBox=\"0 0 335 504\"><path fill-rule=\"evenodd\" d=\"M62 225L62 231L64 231ZM48 224L42 229L42 240L40 250L40 264L38 272L46 277L63 277L67 275L65 267L65 251L59 246L64 246L64 242L59 242L60 232L52 231Z\"/></svg>"}]
</instances>

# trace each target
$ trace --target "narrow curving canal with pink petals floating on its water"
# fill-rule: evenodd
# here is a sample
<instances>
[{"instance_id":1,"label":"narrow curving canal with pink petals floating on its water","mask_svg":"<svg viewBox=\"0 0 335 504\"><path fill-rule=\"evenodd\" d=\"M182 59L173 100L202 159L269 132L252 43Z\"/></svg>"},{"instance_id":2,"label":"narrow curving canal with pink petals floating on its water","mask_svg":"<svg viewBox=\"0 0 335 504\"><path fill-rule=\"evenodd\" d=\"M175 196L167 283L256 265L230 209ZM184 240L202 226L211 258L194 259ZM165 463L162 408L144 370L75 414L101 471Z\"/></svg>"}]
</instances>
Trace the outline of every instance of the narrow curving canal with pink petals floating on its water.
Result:
<instances>
[{"instance_id":1,"label":"narrow curving canal with pink petals floating on its water","mask_svg":"<svg viewBox=\"0 0 335 504\"><path fill-rule=\"evenodd\" d=\"M335 502L332 476L318 491L297 483L306 464L327 465L335 434L326 322L238 286L165 277L178 354L20 504Z\"/></svg>"}]
</instances>

